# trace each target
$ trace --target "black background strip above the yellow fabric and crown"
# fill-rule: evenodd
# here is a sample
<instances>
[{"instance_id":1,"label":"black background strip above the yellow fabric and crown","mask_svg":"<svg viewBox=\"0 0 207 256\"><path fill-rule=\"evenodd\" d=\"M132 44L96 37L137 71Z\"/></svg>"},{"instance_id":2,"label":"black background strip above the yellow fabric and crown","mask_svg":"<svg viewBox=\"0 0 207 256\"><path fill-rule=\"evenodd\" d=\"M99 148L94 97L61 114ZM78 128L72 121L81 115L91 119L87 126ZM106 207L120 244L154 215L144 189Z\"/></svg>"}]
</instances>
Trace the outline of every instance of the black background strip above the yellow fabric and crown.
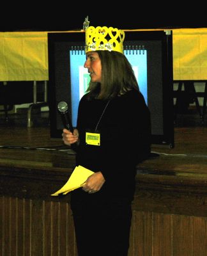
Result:
<instances>
[{"instance_id":1,"label":"black background strip above the yellow fabric and crown","mask_svg":"<svg viewBox=\"0 0 207 256\"><path fill-rule=\"evenodd\" d=\"M199 2L164 3L125 1L50 1L8 3L1 8L0 31L65 31L82 29L88 15L91 26L120 29L206 28L206 7ZM44 4L44 6L43 6ZM5 4L4 4L5 5ZM114 6L113 6L114 5Z\"/></svg>"}]
</instances>

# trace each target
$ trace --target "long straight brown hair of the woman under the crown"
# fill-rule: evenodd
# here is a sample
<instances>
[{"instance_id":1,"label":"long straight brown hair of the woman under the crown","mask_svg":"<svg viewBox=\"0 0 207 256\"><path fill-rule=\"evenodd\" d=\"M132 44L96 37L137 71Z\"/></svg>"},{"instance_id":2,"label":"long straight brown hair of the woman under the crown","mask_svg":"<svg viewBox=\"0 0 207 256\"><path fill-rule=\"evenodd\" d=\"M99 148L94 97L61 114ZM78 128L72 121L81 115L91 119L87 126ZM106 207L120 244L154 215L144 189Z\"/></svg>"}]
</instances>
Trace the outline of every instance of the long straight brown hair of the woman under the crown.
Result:
<instances>
[{"instance_id":1,"label":"long straight brown hair of the woman under the crown","mask_svg":"<svg viewBox=\"0 0 207 256\"><path fill-rule=\"evenodd\" d=\"M89 83L88 97L107 100L122 95L129 90L139 91L132 65L124 54L116 51L96 51L102 63L102 95L100 83Z\"/></svg>"}]
</instances>

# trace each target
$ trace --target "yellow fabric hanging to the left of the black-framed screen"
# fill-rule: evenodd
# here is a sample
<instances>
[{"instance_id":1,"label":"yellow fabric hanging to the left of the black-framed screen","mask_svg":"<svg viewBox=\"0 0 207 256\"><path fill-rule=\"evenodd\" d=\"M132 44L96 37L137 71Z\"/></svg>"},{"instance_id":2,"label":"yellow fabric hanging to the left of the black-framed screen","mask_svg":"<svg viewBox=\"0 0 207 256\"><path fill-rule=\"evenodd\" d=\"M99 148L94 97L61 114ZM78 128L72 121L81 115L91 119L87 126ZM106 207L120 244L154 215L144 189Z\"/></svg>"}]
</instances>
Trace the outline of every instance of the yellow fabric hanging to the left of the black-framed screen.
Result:
<instances>
[{"instance_id":1,"label":"yellow fabric hanging to the left of the black-framed screen","mask_svg":"<svg viewBox=\"0 0 207 256\"><path fill-rule=\"evenodd\" d=\"M48 79L47 32L0 33L0 81Z\"/></svg>"}]
</instances>

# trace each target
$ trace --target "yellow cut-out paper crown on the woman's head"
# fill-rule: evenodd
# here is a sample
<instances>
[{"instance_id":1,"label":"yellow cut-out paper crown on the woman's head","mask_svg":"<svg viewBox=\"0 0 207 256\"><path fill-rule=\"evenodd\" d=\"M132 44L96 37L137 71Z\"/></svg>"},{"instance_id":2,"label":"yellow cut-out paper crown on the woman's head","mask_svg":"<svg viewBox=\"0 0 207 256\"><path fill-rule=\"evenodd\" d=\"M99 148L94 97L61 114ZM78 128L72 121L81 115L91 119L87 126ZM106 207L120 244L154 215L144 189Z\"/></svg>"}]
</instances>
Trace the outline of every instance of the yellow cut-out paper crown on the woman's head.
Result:
<instances>
[{"instance_id":1,"label":"yellow cut-out paper crown on the woman's head","mask_svg":"<svg viewBox=\"0 0 207 256\"><path fill-rule=\"evenodd\" d=\"M86 52L117 51L123 53L125 32L118 28L93 27L86 28Z\"/></svg>"}]
</instances>

